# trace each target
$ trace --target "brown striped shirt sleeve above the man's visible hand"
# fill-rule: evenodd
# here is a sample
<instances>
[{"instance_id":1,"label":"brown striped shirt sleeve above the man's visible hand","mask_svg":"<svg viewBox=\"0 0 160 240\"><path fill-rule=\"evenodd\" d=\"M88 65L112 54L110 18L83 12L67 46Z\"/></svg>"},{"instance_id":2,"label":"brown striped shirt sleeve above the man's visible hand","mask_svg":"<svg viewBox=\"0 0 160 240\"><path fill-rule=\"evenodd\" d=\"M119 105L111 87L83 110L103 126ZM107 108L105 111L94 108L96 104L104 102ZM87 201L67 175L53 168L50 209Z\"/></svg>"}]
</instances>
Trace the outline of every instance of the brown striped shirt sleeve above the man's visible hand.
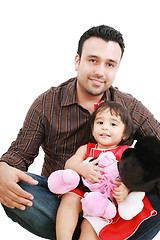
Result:
<instances>
[{"instance_id":1,"label":"brown striped shirt sleeve above the man's visible hand","mask_svg":"<svg viewBox=\"0 0 160 240\"><path fill-rule=\"evenodd\" d=\"M43 142L42 112L42 97L39 97L30 107L17 139L11 144L8 151L2 155L0 161L27 171L29 165L38 155L39 147Z\"/></svg>"}]
</instances>

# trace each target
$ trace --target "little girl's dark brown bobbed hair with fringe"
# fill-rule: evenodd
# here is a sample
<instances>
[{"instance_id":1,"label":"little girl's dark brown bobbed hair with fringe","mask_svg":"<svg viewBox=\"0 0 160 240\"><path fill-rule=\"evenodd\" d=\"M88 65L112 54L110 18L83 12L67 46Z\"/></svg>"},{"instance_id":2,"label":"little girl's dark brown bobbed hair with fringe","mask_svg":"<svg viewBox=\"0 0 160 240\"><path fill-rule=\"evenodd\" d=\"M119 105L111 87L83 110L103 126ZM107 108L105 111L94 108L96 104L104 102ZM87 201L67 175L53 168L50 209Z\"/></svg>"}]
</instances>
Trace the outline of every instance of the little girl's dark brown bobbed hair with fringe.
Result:
<instances>
[{"instance_id":1,"label":"little girl's dark brown bobbed hair with fringe","mask_svg":"<svg viewBox=\"0 0 160 240\"><path fill-rule=\"evenodd\" d=\"M96 110L93 112L91 116L91 129L93 129L94 126L94 120L98 113L101 113L105 111L106 109L110 110L111 115L116 115L121 118L121 121L124 123L125 129L124 129L124 140L118 144L118 145L131 145L132 139L133 139L133 123L131 116L127 109L122 107L119 103L115 103L112 101L107 101L99 105Z\"/></svg>"}]
</instances>

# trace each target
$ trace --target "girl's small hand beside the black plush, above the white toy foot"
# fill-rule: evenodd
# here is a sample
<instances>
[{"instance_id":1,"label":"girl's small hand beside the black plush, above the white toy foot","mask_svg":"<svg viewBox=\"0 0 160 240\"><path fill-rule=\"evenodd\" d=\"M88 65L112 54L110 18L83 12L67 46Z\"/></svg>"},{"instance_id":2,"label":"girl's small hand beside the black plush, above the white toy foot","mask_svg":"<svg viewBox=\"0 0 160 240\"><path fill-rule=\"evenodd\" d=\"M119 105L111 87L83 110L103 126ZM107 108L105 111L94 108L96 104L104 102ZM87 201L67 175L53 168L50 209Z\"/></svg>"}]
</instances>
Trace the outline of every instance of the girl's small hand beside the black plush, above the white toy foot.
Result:
<instances>
[{"instance_id":1,"label":"girl's small hand beside the black plush, above the white toy foot","mask_svg":"<svg viewBox=\"0 0 160 240\"><path fill-rule=\"evenodd\" d=\"M112 196L116 199L117 202L123 201L130 192L129 189L120 181L113 181L117 185L117 188L114 188Z\"/></svg>"}]
</instances>

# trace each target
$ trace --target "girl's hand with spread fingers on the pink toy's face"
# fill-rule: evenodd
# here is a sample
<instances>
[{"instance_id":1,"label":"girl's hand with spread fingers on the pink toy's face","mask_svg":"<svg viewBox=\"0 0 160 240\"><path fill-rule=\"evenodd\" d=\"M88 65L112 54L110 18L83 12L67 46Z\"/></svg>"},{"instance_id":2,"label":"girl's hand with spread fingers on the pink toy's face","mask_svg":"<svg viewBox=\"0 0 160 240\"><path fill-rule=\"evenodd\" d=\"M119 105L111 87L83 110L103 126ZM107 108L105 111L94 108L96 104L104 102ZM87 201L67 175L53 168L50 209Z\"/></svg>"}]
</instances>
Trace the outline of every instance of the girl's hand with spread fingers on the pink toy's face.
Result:
<instances>
[{"instance_id":1,"label":"girl's hand with spread fingers on the pink toy's face","mask_svg":"<svg viewBox=\"0 0 160 240\"><path fill-rule=\"evenodd\" d=\"M88 163L81 163L81 167L83 168L82 176L88 179L92 183L100 182L103 179L103 176L98 172L105 172L103 168L98 167L96 164L98 163L99 159L93 160L92 162Z\"/></svg>"}]
</instances>

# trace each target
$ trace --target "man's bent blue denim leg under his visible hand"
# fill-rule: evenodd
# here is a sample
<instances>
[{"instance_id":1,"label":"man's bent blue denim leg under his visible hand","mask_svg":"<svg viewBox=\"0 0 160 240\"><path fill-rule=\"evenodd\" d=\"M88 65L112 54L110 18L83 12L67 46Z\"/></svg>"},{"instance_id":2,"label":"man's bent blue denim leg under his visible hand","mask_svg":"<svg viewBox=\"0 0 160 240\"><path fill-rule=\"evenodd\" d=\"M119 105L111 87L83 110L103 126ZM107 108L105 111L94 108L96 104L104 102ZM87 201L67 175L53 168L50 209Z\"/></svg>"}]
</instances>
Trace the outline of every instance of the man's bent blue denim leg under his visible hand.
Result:
<instances>
[{"instance_id":1,"label":"man's bent blue denim leg under his visible hand","mask_svg":"<svg viewBox=\"0 0 160 240\"><path fill-rule=\"evenodd\" d=\"M28 231L44 238L55 238L55 222L57 209L60 203L57 195L51 193L47 187L47 178L29 174L39 181L36 186L20 181L20 187L34 196L33 206L26 207L25 211L10 209L5 206L4 210L8 217L18 222ZM45 231L44 231L45 229Z\"/></svg>"}]
</instances>

